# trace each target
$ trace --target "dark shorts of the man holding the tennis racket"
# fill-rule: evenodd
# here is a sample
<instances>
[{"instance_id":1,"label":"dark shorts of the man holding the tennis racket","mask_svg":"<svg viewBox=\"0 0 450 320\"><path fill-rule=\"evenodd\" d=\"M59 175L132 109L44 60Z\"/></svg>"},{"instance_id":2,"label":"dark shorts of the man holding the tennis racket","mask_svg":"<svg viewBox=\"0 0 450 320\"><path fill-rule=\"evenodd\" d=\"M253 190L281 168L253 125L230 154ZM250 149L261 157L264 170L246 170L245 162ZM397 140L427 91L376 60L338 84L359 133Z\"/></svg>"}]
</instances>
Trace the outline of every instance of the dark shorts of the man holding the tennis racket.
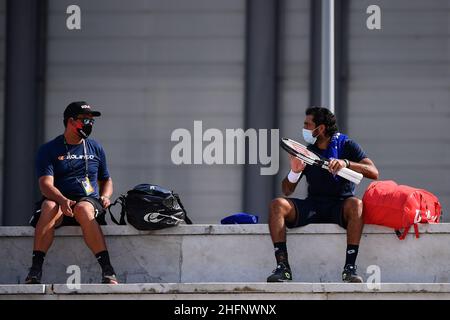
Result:
<instances>
[{"instance_id":1,"label":"dark shorts of the man holding the tennis racket","mask_svg":"<svg viewBox=\"0 0 450 320\"><path fill-rule=\"evenodd\" d=\"M345 199L286 199L295 205L295 220L293 223L286 223L288 228L303 227L313 223L334 223L347 229L343 215Z\"/></svg>"}]
</instances>

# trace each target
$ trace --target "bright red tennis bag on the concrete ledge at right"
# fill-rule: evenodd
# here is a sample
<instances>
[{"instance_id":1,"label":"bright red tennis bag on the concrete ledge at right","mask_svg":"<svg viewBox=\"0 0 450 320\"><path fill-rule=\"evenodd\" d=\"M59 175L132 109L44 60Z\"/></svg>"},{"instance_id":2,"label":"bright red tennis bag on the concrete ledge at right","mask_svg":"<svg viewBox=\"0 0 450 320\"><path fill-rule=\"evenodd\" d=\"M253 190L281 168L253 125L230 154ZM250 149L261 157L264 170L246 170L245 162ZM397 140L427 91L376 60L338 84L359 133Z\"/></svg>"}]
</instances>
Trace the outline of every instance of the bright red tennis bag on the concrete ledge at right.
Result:
<instances>
[{"instance_id":1,"label":"bright red tennis bag on the concrete ledge at right","mask_svg":"<svg viewBox=\"0 0 450 320\"><path fill-rule=\"evenodd\" d=\"M441 204L435 195L391 180L372 182L362 201L364 223L394 228L400 240L411 226L419 238L418 223L438 223L441 217Z\"/></svg>"}]
</instances>

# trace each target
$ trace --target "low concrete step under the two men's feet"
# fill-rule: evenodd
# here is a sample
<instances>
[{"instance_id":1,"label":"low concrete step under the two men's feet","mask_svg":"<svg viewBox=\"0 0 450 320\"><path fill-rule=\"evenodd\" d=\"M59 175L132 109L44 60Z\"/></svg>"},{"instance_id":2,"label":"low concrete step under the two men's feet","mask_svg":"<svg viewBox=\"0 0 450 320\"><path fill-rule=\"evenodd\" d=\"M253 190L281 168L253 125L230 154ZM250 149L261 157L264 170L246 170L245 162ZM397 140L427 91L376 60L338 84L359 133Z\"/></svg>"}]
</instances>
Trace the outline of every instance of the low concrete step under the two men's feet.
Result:
<instances>
[{"instance_id":1,"label":"low concrete step under the two men's feet","mask_svg":"<svg viewBox=\"0 0 450 320\"><path fill-rule=\"evenodd\" d=\"M71 300L335 300L450 299L448 283L135 283L0 285L0 299Z\"/></svg>"}]
</instances>

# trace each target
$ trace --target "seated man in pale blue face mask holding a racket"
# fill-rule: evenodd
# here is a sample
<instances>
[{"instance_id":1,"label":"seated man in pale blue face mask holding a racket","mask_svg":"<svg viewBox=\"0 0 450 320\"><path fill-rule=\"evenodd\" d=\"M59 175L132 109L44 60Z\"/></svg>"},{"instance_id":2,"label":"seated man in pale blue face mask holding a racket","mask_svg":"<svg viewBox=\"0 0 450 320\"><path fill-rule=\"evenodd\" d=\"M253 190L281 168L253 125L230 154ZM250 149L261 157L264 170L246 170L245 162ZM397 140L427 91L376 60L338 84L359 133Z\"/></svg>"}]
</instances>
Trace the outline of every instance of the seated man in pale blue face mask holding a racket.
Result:
<instances>
[{"instance_id":1,"label":"seated man in pale blue face mask holding a racket","mask_svg":"<svg viewBox=\"0 0 450 320\"><path fill-rule=\"evenodd\" d=\"M342 280L362 282L356 273L356 257L363 230L362 201L354 196L355 184L336 175L350 168L364 177L378 179L378 170L361 147L338 132L336 117L322 107L306 110L303 138L308 149L331 159L330 172L317 166L307 166L290 157L291 171L282 182L286 197L291 195L302 176L306 177L306 199L276 198L272 200L269 229L275 248L277 267L268 282L292 280L286 248L286 227L296 228L311 223L334 223L347 229L347 251Z\"/></svg>"}]
</instances>

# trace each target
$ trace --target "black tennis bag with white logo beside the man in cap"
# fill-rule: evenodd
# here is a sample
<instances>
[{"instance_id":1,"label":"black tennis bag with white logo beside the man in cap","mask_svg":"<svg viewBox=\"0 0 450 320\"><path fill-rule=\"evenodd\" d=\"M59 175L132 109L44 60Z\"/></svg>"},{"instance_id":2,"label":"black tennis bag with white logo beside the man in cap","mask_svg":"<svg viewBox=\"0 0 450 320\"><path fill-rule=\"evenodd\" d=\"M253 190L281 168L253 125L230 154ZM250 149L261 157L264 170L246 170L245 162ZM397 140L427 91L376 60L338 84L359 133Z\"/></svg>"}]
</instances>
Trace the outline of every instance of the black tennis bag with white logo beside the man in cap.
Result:
<instances>
[{"instance_id":1,"label":"black tennis bag with white logo beside the man in cap","mask_svg":"<svg viewBox=\"0 0 450 320\"><path fill-rule=\"evenodd\" d=\"M120 204L120 221L111 212L111 207ZM139 184L121 195L108 208L111 220L138 230L158 230L177 226L180 223L192 224L178 194L154 184Z\"/></svg>"}]
</instances>

